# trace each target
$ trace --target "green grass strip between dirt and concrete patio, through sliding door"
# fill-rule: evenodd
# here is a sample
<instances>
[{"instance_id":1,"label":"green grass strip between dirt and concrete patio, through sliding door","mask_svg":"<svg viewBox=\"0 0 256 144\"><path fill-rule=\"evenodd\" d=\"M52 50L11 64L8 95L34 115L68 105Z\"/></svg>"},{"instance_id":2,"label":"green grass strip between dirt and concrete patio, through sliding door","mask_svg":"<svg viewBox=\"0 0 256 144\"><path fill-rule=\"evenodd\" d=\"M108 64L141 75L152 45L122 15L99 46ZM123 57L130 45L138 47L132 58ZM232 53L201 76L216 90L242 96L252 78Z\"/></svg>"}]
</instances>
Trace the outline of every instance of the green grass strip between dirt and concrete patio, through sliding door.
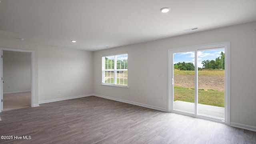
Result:
<instances>
[{"instance_id":1,"label":"green grass strip between dirt and concrete patio, through sliding door","mask_svg":"<svg viewBox=\"0 0 256 144\"><path fill-rule=\"evenodd\" d=\"M218 90L198 90L198 103L224 107L224 92ZM174 86L174 101L194 102L194 88Z\"/></svg>"}]
</instances>

